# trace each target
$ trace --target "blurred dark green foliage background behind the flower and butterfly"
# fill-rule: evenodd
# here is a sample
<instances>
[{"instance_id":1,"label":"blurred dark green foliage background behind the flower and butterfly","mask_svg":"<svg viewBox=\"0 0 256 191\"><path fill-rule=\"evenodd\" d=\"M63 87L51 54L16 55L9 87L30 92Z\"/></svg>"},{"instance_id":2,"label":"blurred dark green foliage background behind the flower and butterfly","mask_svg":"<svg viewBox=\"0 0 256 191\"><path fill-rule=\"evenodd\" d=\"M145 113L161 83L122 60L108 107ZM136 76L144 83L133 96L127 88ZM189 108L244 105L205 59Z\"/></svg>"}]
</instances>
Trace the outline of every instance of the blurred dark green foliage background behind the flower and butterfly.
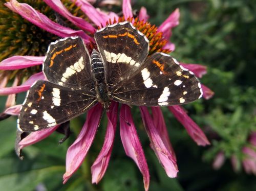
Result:
<instances>
[{"instance_id":1,"label":"blurred dark green foliage background behind the flower and butterfly","mask_svg":"<svg viewBox=\"0 0 256 191\"><path fill-rule=\"evenodd\" d=\"M212 170L212 160L219 152L226 159L236 155L256 131L256 3L245 0L137 0L134 9L146 7L150 21L157 26L179 8L180 25L173 30L176 50L172 56L185 63L208 67L202 82L215 92L214 98L185 106L190 116L211 141L198 147L170 112L163 108L170 140L178 158L178 178L170 179L150 149L139 111L134 120L151 174L150 190L256 190L255 177L232 170L229 160L219 170ZM20 103L24 96L20 97ZM5 98L0 98L4 103ZM4 104L1 104L1 111ZM103 142L105 118L97 132L82 167L62 185L65 155L75 140L85 116L72 121L74 134L58 145L62 135L53 133L44 141L24 149L20 161L14 153L16 118L0 122L0 190L142 190L143 180L136 164L127 158L117 130L109 168L98 185L91 184L90 166ZM77 130L78 128L78 130ZM241 165L240 165L241 167Z\"/></svg>"}]
</instances>

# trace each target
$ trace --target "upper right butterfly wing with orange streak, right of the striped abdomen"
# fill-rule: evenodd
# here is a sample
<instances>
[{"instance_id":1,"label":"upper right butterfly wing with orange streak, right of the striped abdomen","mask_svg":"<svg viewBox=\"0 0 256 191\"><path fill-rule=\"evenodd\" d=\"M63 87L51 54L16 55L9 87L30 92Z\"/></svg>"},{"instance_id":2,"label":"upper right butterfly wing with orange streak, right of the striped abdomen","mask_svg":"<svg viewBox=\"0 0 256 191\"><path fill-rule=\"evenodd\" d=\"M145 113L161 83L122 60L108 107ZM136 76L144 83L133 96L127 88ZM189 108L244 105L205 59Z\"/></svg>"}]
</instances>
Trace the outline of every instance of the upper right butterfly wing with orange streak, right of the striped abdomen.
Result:
<instances>
[{"instance_id":1,"label":"upper right butterfly wing with orange streak, right of the striped abdomen","mask_svg":"<svg viewBox=\"0 0 256 191\"><path fill-rule=\"evenodd\" d=\"M129 78L148 54L148 39L130 22L97 31L95 40L105 64L106 82L109 85Z\"/></svg>"}]
</instances>

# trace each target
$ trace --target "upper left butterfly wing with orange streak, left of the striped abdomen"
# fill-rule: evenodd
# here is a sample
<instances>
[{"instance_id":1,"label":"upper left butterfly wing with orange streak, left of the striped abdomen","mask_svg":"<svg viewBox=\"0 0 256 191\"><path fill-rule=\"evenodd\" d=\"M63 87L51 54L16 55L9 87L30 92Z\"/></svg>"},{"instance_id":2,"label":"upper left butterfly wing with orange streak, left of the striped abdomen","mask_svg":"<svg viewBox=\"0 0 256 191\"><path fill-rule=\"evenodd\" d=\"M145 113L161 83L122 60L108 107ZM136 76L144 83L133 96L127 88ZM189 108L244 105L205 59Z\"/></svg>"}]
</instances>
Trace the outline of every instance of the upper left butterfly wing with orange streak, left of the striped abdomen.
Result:
<instances>
[{"instance_id":1,"label":"upper left butterfly wing with orange streak, left of the striped abdomen","mask_svg":"<svg viewBox=\"0 0 256 191\"><path fill-rule=\"evenodd\" d=\"M47 79L73 89L94 88L88 50L79 37L52 42L43 64Z\"/></svg>"}]
</instances>

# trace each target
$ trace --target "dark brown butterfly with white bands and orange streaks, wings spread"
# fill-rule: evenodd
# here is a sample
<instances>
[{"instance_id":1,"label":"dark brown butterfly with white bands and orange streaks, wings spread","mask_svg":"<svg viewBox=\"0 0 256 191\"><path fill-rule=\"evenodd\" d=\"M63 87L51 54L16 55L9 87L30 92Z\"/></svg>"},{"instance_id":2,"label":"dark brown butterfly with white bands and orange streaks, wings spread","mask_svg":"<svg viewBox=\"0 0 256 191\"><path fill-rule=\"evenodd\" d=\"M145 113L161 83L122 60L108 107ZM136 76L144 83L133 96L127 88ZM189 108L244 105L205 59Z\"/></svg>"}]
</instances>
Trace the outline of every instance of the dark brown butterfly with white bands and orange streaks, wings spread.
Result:
<instances>
[{"instance_id":1,"label":"dark brown butterfly with white bands and orange streaks, wings spread","mask_svg":"<svg viewBox=\"0 0 256 191\"><path fill-rule=\"evenodd\" d=\"M99 29L91 54L80 37L49 45L42 70L48 81L31 86L20 110L20 131L56 126L100 102L136 106L172 106L202 97L197 77L162 52L148 56L147 37L130 22Z\"/></svg>"}]
</instances>

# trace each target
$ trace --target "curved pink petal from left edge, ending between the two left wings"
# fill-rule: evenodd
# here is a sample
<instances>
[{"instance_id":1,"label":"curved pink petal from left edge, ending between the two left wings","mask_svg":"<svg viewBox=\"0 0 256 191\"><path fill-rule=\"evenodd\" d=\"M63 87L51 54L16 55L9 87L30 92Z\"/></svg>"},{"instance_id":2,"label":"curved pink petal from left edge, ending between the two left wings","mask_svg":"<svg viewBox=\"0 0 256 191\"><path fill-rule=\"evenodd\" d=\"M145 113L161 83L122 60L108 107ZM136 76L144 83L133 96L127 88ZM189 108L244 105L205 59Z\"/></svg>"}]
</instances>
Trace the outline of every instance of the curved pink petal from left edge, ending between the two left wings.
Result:
<instances>
[{"instance_id":1,"label":"curved pink petal from left edge, ending between the two left wings","mask_svg":"<svg viewBox=\"0 0 256 191\"><path fill-rule=\"evenodd\" d=\"M8 95L8 94L12 94L12 93L20 93L20 92L23 92L23 91L27 91L27 90L29 90L31 85L33 83L35 83L37 80L46 80L46 78L45 78L45 76L42 72L32 75L22 85L14 86L14 87L0 88L0 95Z\"/></svg>"}]
</instances>

